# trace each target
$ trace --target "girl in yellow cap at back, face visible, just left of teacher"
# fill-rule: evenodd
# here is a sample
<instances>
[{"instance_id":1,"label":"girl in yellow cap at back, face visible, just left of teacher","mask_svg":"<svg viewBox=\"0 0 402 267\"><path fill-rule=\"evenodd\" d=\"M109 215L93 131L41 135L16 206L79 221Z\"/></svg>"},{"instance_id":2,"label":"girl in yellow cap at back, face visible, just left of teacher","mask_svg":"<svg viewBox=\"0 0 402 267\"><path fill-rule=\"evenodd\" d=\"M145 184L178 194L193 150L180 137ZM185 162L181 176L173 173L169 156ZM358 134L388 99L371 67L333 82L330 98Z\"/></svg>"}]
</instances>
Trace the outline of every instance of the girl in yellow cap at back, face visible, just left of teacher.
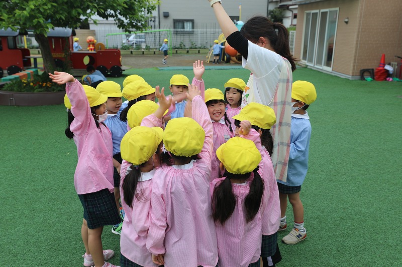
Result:
<instances>
[{"instance_id":1,"label":"girl in yellow cap at back, face visible, just left of teacher","mask_svg":"<svg viewBox=\"0 0 402 267\"><path fill-rule=\"evenodd\" d=\"M226 102L226 115L228 116L232 129L234 130L235 120L233 116L239 114L242 105L242 95L246 89L246 83L239 78L232 78L225 83L225 102Z\"/></svg>"}]
</instances>

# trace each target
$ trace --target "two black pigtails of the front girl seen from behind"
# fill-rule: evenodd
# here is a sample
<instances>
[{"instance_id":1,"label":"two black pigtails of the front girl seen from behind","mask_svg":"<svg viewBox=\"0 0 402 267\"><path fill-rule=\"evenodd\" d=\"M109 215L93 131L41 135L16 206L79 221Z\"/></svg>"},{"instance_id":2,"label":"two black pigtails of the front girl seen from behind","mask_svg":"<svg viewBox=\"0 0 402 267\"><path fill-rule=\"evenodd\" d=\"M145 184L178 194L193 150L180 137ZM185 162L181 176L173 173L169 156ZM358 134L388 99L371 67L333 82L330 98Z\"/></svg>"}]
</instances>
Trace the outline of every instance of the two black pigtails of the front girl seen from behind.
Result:
<instances>
[{"instance_id":1,"label":"two black pigtails of the front girl seen from behind","mask_svg":"<svg viewBox=\"0 0 402 267\"><path fill-rule=\"evenodd\" d=\"M258 167L253 170L254 178L250 184L250 191L244 199L246 209L246 222L250 222L257 215L261 206L264 193L264 181L258 173ZM247 179L251 172L245 174L233 174L225 172L225 179L217 183L212 194L212 217L222 225L225 224L233 214L236 207L236 195L233 193L233 186L230 179ZM240 205L242 203L239 203Z\"/></svg>"}]
</instances>

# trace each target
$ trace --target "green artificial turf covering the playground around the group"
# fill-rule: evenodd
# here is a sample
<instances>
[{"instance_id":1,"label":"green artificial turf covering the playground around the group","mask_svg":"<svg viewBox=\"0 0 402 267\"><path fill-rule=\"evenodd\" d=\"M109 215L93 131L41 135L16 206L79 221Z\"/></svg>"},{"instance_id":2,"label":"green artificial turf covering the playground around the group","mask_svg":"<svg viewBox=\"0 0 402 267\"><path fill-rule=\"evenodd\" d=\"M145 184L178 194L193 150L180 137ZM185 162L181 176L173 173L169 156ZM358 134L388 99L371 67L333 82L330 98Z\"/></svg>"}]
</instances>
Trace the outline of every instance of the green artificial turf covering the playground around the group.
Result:
<instances>
[{"instance_id":1,"label":"green artificial turf covering the playground around the group","mask_svg":"<svg viewBox=\"0 0 402 267\"><path fill-rule=\"evenodd\" d=\"M177 73L192 77L192 71L157 69L125 75L168 86ZM206 88L222 89L228 79L247 81L248 75L207 69L204 80ZM402 83L350 81L304 68L293 80L312 82L318 94L308 109L310 165L300 194L308 234L296 245L279 243L277 265L400 266ZM1 265L82 266L77 152L64 135L65 107L0 106L0 112ZM286 215L291 226L290 205ZM116 252L110 262L119 264L120 237L110 227L103 243Z\"/></svg>"}]
</instances>

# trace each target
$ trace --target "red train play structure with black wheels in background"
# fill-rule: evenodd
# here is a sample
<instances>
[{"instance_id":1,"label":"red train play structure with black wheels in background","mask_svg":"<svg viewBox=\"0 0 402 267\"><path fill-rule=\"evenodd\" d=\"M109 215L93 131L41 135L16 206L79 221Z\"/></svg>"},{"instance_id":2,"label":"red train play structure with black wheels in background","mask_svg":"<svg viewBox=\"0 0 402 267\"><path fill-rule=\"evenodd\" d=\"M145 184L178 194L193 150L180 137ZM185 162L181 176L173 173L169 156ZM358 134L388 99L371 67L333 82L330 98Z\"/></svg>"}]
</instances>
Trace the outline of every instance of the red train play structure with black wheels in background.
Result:
<instances>
[{"instance_id":1,"label":"red train play structure with black wheels in background","mask_svg":"<svg viewBox=\"0 0 402 267\"><path fill-rule=\"evenodd\" d=\"M9 75L18 73L24 69L31 68L31 56L29 49L17 48L16 37L26 35L19 31L0 29L0 77L7 71ZM96 51L73 51L74 30L66 28L55 28L48 33L48 40L53 59L57 67L62 67L66 60L65 51L68 51L67 59L71 61L75 70L86 70L87 65L93 65L105 76L122 76L122 57L118 49L105 49L102 43L95 46ZM36 66L35 66L36 67Z\"/></svg>"}]
</instances>

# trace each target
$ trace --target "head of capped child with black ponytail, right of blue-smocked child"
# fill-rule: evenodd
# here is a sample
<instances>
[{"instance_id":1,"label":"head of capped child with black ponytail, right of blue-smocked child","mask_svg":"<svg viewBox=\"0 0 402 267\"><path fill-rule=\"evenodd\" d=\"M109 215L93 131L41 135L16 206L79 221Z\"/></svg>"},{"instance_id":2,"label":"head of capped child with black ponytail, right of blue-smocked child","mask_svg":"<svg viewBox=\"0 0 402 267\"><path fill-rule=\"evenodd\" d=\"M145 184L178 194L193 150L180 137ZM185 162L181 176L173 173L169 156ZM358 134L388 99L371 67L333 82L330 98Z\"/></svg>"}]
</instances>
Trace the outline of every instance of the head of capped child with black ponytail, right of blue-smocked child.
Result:
<instances>
[{"instance_id":1,"label":"head of capped child with black ponytail, right of blue-smocked child","mask_svg":"<svg viewBox=\"0 0 402 267\"><path fill-rule=\"evenodd\" d=\"M120 114L120 119L122 121L127 121L127 113L129 109L138 101L155 100L155 88L152 88L152 86L141 79L127 84L123 88L122 94L123 97L129 101L127 107L125 107Z\"/></svg>"}]
</instances>

